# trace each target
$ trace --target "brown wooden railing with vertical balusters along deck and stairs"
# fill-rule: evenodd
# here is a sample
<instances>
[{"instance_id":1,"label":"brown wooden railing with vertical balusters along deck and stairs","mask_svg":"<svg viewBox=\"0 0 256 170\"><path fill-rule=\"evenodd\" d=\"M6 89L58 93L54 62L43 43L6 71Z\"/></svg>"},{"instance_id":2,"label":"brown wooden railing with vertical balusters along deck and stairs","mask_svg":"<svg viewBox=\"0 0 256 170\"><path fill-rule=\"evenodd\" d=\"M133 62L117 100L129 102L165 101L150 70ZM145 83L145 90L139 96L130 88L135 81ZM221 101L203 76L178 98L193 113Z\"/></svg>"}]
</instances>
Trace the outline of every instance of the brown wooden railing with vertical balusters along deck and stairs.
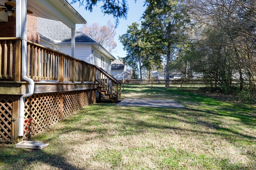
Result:
<instances>
[{"instance_id":1,"label":"brown wooden railing with vertical balusters along deck and stairs","mask_svg":"<svg viewBox=\"0 0 256 170\"><path fill-rule=\"evenodd\" d=\"M0 81L21 80L21 39L0 38ZM120 99L121 83L102 68L27 41L27 76L33 80L99 83Z\"/></svg>"}]
</instances>

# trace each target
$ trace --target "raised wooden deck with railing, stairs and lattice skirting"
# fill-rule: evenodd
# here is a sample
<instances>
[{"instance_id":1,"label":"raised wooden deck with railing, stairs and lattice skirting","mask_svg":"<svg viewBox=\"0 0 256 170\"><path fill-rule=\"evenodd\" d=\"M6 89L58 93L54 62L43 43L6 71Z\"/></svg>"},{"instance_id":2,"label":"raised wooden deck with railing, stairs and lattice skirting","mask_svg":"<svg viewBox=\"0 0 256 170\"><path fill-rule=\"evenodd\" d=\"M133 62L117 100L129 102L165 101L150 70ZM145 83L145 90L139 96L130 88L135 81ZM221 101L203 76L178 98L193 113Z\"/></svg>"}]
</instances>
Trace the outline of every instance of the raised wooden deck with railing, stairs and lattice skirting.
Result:
<instances>
[{"instance_id":1,"label":"raised wooden deck with railing, stairs and lattice skirting","mask_svg":"<svg viewBox=\"0 0 256 170\"><path fill-rule=\"evenodd\" d=\"M121 83L102 68L31 41L27 45L26 71L35 86L25 99L23 140L95 103L96 90L113 102L121 98ZM21 68L21 39L0 38L0 142L17 139L19 98L29 86Z\"/></svg>"}]
</instances>

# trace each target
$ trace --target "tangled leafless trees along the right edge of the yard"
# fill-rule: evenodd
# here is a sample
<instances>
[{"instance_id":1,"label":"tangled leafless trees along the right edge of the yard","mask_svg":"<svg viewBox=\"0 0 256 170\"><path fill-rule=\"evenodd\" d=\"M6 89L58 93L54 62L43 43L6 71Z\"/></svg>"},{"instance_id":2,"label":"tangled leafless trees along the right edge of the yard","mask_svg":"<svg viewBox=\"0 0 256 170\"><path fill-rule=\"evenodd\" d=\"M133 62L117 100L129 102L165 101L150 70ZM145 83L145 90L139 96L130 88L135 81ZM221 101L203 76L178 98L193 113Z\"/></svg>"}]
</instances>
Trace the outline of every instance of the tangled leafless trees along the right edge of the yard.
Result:
<instances>
[{"instance_id":1,"label":"tangled leafless trees along the right edge of the yard","mask_svg":"<svg viewBox=\"0 0 256 170\"><path fill-rule=\"evenodd\" d=\"M200 28L193 42L198 43L201 52L205 51L204 65L212 66L216 77L223 80L236 78L233 73L239 72L240 89L245 77L250 87L244 87L256 99L256 1L187 0L187 3L191 18Z\"/></svg>"}]
</instances>

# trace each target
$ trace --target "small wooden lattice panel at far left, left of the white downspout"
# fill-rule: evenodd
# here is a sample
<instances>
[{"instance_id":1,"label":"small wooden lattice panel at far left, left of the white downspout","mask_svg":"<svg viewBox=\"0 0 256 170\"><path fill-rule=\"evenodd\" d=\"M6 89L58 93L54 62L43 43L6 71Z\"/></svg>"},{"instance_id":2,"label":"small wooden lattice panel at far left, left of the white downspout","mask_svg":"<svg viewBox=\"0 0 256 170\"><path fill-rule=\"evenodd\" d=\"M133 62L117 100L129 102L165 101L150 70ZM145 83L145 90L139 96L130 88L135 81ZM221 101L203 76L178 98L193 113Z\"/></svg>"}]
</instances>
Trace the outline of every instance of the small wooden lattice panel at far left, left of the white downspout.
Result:
<instances>
[{"instance_id":1,"label":"small wooden lattice panel at far left, left of the white downspout","mask_svg":"<svg viewBox=\"0 0 256 170\"><path fill-rule=\"evenodd\" d=\"M12 140L12 102L13 98L0 98L0 141Z\"/></svg>"}]
</instances>

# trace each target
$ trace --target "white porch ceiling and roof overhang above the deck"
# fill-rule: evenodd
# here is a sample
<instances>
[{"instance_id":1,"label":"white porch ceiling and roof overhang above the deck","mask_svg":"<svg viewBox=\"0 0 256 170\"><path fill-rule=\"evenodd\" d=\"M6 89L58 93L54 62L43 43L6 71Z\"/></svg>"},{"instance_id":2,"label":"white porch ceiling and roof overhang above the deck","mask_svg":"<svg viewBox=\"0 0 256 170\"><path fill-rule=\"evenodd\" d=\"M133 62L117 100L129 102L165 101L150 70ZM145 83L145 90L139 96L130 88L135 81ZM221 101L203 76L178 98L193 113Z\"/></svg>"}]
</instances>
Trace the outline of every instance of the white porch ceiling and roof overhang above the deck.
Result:
<instances>
[{"instance_id":1,"label":"white porch ceiling and roof overhang above the deck","mask_svg":"<svg viewBox=\"0 0 256 170\"><path fill-rule=\"evenodd\" d=\"M0 0L0 4L6 1ZM12 1L16 3L16 0ZM86 23L67 0L27 0L27 8L33 12L29 15L61 21L70 28L75 28L76 23Z\"/></svg>"}]
</instances>

